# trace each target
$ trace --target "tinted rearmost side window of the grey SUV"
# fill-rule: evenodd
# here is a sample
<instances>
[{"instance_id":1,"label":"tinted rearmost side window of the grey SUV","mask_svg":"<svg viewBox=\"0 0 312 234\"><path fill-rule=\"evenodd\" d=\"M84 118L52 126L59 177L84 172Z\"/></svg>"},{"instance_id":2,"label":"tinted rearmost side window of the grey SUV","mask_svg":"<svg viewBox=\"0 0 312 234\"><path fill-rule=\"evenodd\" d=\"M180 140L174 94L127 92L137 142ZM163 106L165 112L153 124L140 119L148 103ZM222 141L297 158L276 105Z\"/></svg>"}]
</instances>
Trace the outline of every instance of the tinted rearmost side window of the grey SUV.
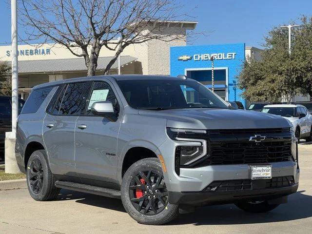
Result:
<instances>
[{"instance_id":1,"label":"tinted rearmost side window of the grey SUV","mask_svg":"<svg viewBox=\"0 0 312 234\"><path fill-rule=\"evenodd\" d=\"M21 114L35 113L38 111L44 99L48 96L53 87L35 89L30 93L21 111Z\"/></svg>"}]
</instances>

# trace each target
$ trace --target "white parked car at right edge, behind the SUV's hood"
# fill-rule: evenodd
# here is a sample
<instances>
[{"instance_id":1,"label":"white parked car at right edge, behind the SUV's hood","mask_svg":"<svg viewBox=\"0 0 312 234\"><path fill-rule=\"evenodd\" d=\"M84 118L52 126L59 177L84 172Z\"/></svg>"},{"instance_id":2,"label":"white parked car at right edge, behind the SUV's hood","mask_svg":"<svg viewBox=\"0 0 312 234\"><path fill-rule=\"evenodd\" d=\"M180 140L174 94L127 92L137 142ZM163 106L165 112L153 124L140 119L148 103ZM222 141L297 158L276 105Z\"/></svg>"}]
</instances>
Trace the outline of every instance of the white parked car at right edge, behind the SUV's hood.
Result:
<instances>
[{"instance_id":1,"label":"white parked car at right edge, behind the SUV's hood","mask_svg":"<svg viewBox=\"0 0 312 234\"><path fill-rule=\"evenodd\" d=\"M266 105L261 112L284 117L292 122L295 136L298 139L312 140L312 115L300 104Z\"/></svg>"}]
</instances>

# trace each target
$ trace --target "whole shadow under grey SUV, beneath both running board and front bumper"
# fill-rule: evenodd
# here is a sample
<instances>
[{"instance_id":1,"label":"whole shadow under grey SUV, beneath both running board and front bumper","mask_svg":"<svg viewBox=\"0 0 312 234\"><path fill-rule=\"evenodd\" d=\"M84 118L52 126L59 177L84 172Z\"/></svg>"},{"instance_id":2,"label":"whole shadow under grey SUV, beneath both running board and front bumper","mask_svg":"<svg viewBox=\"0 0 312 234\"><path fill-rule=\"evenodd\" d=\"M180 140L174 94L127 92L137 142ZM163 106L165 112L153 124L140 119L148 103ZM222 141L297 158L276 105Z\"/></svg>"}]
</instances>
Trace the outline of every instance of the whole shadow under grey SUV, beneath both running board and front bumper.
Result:
<instances>
[{"instance_id":1,"label":"whole shadow under grey SUV, beneath both running board and front bumper","mask_svg":"<svg viewBox=\"0 0 312 234\"><path fill-rule=\"evenodd\" d=\"M232 225L255 224L291 221L312 217L312 196L298 191L290 195L287 204L282 204L275 210L263 214L246 213L234 204L215 205L198 208L195 213L182 214L167 225ZM69 190L61 190L58 200L77 199L76 202L125 212L121 200L98 195L84 194Z\"/></svg>"}]
</instances>

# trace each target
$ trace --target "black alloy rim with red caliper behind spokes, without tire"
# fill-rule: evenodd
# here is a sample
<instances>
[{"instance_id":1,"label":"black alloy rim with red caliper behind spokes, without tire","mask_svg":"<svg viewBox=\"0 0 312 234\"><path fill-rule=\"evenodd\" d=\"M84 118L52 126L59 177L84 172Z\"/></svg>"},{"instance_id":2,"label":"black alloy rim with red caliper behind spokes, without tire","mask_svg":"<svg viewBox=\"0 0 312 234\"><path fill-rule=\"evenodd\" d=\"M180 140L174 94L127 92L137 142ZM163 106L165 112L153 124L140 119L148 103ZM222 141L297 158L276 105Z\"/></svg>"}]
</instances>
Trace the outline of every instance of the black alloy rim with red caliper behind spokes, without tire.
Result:
<instances>
[{"instance_id":1,"label":"black alloy rim with red caliper behind spokes, without tire","mask_svg":"<svg viewBox=\"0 0 312 234\"><path fill-rule=\"evenodd\" d=\"M161 213L168 205L168 191L162 174L152 169L139 171L130 182L132 205L144 215Z\"/></svg>"}]
</instances>

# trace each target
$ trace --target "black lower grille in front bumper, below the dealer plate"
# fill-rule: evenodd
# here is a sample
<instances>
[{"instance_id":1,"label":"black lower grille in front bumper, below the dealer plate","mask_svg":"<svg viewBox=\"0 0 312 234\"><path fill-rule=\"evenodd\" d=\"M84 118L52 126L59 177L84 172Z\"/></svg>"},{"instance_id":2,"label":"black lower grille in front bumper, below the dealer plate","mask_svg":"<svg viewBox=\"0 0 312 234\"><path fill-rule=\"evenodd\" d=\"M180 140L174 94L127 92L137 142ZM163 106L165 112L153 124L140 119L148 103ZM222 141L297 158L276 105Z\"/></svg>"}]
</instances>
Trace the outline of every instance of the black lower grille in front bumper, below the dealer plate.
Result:
<instances>
[{"instance_id":1,"label":"black lower grille in front bumper, below the dealer plate","mask_svg":"<svg viewBox=\"0 0 312 234\"><path fill-rule=\"evenodd\" d=\"M213 181L202 192L233 192L257 189L274 189L294 185L293 176L273 177L272 179L235 179Z\"/></svg>"}]
</instances>

